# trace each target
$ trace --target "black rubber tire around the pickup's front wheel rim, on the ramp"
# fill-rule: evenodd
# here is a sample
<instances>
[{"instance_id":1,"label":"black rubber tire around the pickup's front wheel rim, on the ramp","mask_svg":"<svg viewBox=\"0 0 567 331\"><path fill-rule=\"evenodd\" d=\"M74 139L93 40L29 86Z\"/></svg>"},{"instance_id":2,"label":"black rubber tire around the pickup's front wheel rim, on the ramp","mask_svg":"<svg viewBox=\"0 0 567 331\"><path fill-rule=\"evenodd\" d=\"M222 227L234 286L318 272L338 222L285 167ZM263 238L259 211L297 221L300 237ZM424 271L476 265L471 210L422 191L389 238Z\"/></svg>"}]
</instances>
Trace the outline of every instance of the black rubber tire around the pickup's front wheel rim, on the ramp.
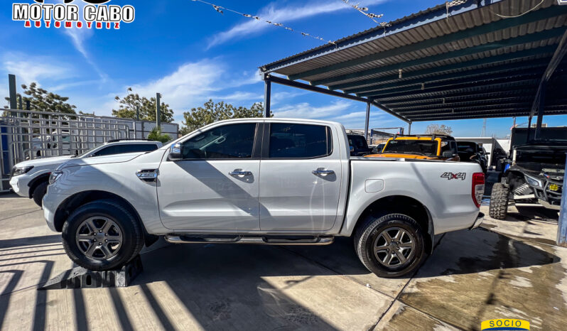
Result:
<instances>
[{"instance_id":1,"label":"black rubber tire around the pickup's front wheel rim, on the ramp","mask_svg":"<svg viewBox=\"0 0 567 331\"><path fill-rule=\"evenodd\" d=\"M83 222L92 217L110 219L119 228L121 244L109 259L87 257L77 244L77 232ZM121 268L134 259L144 245L144 232L138 220L114 200L97 200L77 208L63 224L62 232L63 248L70 259L83 268L96 271ZM99 239L98 242L102 244L102 240Z\"/></svg>"}]
</instances>

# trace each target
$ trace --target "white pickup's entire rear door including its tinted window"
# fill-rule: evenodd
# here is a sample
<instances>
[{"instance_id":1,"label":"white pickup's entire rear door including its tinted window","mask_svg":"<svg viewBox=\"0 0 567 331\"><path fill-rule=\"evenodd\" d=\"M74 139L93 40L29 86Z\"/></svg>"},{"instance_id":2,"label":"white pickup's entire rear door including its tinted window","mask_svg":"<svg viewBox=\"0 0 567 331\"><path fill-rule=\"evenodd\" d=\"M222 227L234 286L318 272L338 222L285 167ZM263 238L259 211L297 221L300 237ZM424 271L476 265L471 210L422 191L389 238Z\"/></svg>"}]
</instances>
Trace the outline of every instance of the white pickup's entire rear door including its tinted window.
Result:
<instances>
[{"instance_id":1,"label":"white pickup's entire rear door including its tinted window","mask_svg":"<svg viewBox=\"0 0 567 331\"><path fill-rule=\"evenodd\" d=\"M260 165L262 230L322 232L333 227L342 170L338 148L333 152L330 143L330 128L323 128L327 141L325 136L310 138L321 131L302 125L271 124L264 135L269 147L263 148Z\"/></svg>"}]
</instances>

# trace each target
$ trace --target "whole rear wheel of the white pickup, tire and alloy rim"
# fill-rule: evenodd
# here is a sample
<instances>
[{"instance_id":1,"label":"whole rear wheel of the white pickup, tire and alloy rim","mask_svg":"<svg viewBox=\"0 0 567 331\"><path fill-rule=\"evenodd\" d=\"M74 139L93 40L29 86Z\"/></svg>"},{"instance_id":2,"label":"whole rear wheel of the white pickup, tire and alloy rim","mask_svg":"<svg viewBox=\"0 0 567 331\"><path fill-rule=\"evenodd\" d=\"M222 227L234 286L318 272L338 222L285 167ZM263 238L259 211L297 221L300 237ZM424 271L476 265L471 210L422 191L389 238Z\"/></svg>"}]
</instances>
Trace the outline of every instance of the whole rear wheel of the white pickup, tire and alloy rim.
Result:
<instances>
[{"instance_id":1,"label":"whole rear wheel of the white pickup, tire and alloy rim","mask_svg":"<svg viewBox=\"0 0 567 331\"><path fill-rule=\"evenodd\" d=\"M403 214L369 215L357 229L355 249L362 264L384 278L405 276L426 257L423 229Z\"/></svg>"}]
</instances>

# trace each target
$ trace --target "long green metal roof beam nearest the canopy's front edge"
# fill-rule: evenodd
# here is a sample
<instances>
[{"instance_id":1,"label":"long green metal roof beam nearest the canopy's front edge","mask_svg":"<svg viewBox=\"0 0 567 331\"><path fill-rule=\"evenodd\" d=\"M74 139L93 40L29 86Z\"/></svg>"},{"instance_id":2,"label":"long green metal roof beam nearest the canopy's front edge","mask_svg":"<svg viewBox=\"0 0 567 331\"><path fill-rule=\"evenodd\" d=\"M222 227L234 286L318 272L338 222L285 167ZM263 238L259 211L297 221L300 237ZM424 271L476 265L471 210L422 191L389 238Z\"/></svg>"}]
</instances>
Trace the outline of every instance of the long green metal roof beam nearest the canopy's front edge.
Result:
<instances>
[{"instance_id":1,"label":"long green metal roof beam nearest the canopy's front edge","mask_svg":"<svg viewBox=\"0 0 567 331\"><path fill-rule=\"evenodd\" d=\"M448 33L444 36L437 38L430 38L423 40L418 43L412 43L409 45L401 46L398 48L393 48L390 50L383 50L379 53L374 53L361 58L356 58L353 60L343 61L341 63L335 63L333 65L327 65L325 67L319 67L313 70L307 70L304 72L299 72L295 75L289 75L290 80L300 80L305 77L311 77L315 75L320 75L326 72L344 69L346 67L352 67L355 65L361 65L363 63L369 63L372 61L384 60L385 58L390 58L395 55L405 54L410 52L415 52L417 50L423 50L425 48L431 48L438 45L443 45L446 43L453 43L455 41L471 38L474 36L481 36L494 31L499 31L505 28L511 28L514 26L520 26L522 24L527 24L535 21L541 21L546 18L551 18L554 16L561 15L561 13L567 13L567 9L557 8L557 6L550 6L546 9L540 9L538 11L531 11L523 16L515 18L507 18L505 20L495 21L490 24L483 24L482 26L477 26L474 28L468 28L465 30L457 31L454 33Z\"/></svg>"}]
</instances>

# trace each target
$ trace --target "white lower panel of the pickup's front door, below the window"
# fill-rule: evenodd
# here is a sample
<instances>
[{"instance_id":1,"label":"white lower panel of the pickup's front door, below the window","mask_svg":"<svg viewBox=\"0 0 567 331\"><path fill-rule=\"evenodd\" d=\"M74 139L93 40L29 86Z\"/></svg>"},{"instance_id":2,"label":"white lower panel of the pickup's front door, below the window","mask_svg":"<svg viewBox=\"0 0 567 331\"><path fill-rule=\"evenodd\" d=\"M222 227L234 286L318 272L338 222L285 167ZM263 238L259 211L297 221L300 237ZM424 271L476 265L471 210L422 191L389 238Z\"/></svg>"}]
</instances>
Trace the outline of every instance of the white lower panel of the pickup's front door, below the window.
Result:
<instances>
[{"instance_id":1,"label":"white lower panel of the pickup's front door, below the window","mask_svg":"<svg viewBox=\"0 0 567 331\"><path fill-rule=\"evenodd\" d=\"M161 222L178 230L259 229L259 166L258 160L163 162ZM251 174L229 175L234 170Z\"/></svg>"}]
</instances>

